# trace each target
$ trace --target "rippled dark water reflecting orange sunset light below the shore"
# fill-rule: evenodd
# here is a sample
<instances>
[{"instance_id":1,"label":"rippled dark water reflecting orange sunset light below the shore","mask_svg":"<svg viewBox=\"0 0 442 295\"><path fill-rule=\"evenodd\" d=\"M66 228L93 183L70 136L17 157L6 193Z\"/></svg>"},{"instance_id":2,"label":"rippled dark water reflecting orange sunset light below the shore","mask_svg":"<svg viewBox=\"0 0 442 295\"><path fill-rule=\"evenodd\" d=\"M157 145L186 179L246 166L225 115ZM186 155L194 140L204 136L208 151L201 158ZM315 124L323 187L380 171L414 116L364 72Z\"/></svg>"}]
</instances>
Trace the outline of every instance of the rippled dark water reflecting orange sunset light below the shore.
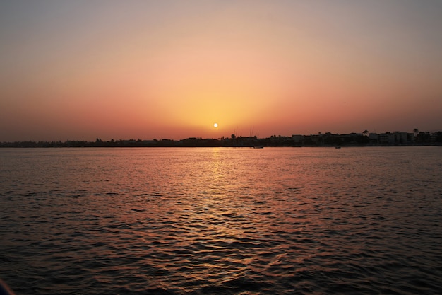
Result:
<instances>
[{"instance_id":1,"label":"rippled dark water reflecting orange sunset light below the shore","mask_svg":"<svg viewBox=\"0 0 442 295\"><path fill-rule=\"evenodd\" d=\"M16 294L441 294L442 149L0 149Z\"/></svg>"}]
</instances>

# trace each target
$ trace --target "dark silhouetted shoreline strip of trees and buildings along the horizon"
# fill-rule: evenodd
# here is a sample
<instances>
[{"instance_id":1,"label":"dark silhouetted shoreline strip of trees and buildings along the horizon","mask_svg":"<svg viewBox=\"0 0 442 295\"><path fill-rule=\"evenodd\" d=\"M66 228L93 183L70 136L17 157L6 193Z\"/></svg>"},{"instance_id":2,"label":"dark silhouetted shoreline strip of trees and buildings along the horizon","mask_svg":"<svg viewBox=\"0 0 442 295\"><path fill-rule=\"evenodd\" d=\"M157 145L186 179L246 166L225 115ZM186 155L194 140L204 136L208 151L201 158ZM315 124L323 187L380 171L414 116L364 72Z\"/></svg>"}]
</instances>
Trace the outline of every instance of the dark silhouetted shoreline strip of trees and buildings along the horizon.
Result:
<instances>
[{"instance_id":1,"label":"dark silhouetted shoreline strip of trees and buildings along the horizon","mask_svg":"<svg viewBox=\"0 0 442 295\"><path fill-rule=\"evenodd\" d=\"M3 142L0 147L165 147L165 146L414 146L438 145L442 146L442 132L386 132L386 133L350 133L332 134L330 132L292 135L285 137L273 135L267 138L222 137L220 139L203 139L190 137L187 139L153 139L153 140L114 140L102 141L19 141Z\"/></svg>"}]
</instances>

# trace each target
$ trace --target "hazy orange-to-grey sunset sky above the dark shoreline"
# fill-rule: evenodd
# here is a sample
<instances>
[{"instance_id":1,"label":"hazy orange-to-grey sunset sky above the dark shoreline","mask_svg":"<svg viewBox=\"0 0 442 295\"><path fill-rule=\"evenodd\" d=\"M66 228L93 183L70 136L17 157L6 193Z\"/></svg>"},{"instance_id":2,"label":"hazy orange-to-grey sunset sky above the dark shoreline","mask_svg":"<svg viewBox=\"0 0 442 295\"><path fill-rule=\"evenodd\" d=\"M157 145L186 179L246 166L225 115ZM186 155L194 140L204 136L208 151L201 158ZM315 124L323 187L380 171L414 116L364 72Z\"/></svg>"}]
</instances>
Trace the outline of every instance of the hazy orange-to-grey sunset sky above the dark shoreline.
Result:
<instances>
[{"instance_id":1,"label":"hazy orange-to-grey sunset sky above the dark shoreline","mask_svg":"<svg viewBox=\"0 0 442 295\"><path fill-rule=\"evenodd\" d=\"M0 0L0 141L441 131L441 32L439 0Z\"/></svg>"}]
</instances>

